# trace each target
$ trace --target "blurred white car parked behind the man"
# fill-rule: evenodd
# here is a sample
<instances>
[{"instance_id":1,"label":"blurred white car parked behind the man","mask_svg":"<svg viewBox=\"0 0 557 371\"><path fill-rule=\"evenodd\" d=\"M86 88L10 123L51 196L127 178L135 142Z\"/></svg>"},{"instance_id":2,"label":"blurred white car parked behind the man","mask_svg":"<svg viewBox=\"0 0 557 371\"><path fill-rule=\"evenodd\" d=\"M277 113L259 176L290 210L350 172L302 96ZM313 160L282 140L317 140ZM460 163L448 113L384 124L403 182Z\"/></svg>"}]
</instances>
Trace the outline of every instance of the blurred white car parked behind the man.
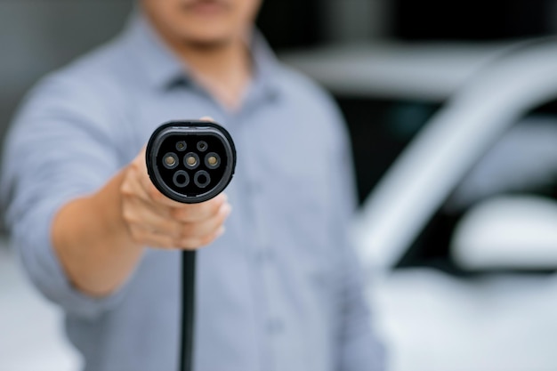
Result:
<instances>
[{"instance_id":1,"label":"blurred white car parked behind the man","mask_svg":"<svg viewBox=\"0 0 557 371\"><path fill-rule=\"evenodd\" d=\"M376 101L406 107L354 135L360 191L367 173L376 178L354 236L392 370L556 370L557 112L547 103L557 42L360 45L283 59L341 106L359 100L356 119ZM408 129L416 107L434 114ZM377 125L400 120L415 132L408 145L374 151ZM371 157L381 156L389 166L377 172Z\"/></svg>"}]
</instances>

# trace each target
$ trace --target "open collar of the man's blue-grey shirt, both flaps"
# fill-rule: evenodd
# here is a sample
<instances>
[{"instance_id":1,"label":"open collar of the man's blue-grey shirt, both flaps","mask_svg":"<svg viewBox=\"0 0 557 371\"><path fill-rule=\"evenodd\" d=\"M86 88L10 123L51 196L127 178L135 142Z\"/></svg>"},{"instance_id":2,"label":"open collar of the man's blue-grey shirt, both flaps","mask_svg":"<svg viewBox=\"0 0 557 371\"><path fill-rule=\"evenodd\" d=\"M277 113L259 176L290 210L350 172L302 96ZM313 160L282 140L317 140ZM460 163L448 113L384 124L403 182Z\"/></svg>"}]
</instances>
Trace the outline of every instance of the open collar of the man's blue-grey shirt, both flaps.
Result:
<instances>
[{"instance_id":1,"label":"open collar of the man's blue-grey shirt, both flaps","mask_svg":"<svg viewBox=\"0 0 557 371\"><path fill-rule=\"evenodd\" d=\"M176 57L140 10L136 9L132 13L123 38L153 87L167 89L177 83L190 81L187 64ZM254 63L253 85L262 88L265 93L275 95L278 93L279 67L276 55L257 29L252 32L249 44Z\"/></svg>"}]
</instances>

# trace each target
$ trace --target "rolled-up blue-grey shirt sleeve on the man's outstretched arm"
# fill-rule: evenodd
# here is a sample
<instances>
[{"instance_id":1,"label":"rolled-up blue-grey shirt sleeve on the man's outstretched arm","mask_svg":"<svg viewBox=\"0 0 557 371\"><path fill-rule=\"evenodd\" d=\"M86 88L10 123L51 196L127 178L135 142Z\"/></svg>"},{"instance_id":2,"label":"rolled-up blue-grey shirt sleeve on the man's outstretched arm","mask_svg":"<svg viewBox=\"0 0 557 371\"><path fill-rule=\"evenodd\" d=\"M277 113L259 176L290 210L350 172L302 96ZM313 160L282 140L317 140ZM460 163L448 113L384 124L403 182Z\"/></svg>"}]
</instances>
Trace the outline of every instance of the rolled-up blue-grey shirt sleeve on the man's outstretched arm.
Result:
<instances>
[{"instance_id":1,"label":"rolled-up blue-grey shirt sleeve on the man's outstretched arm","mask_svg":"<svg viewBox=\"0 0 557 371\"><path fill-rule=\"evenodd\" d=\"M98 190L117 172L107 117L107 107L84 86L48 78L24 102L3 156L5 222L20 261L47 298L85 318L115 305L124 290L93 298L72 286L52 247L52 218L61 206Z\"/></svg>"}]
</instances>

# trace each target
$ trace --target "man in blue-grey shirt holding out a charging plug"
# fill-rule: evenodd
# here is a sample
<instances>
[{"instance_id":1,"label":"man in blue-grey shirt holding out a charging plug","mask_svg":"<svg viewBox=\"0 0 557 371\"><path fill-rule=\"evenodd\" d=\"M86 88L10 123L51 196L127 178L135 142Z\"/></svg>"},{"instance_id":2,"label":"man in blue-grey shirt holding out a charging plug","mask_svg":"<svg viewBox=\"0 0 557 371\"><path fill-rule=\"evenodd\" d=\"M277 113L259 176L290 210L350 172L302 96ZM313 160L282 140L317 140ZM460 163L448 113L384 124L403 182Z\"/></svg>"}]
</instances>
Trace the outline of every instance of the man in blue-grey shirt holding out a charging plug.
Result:
<instances>
[{"instance_id":1,"label":"man in blue-grey shirt holding out a charging plug","mask_svg":"<svg viewBox=\"0 0 557 371\"><path fill-rule=\"evenodd\" d=\"M179 252L202 246L194 369L382 368L347 246L341 118L253 30L258 3L142 0L123 35L45 78L15 120L6 218L86 370L177 369ZM142 148L157 125L203 116L234 137L236 175L227 195L178 204Z\"/></svg>"}]
</instances>

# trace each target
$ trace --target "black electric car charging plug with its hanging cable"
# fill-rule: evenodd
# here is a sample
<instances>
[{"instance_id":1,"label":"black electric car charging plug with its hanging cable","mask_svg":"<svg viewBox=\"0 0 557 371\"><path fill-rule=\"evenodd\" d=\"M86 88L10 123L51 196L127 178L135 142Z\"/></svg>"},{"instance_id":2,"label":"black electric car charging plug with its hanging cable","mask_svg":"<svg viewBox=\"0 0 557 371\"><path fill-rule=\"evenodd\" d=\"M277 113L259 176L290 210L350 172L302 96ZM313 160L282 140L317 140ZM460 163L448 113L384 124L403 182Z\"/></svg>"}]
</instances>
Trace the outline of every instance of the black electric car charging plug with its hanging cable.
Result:
<instances>
[{"instance_id":1,"label":"black electric car charging plug with its hanging cable","mask_svg":"<svg viewBox=\"0 0 557 371\"><path fill-rule=\"evenodd\" d=\"M204 158L201 160L201 158ZM236 148L212 121L170 121L157 127L145 153L149 178L163 195L184 204L214 198L232 180ZM182 324L179 371L193 369L196 252L182 252Z\"/></svg>"}]
</instances>

